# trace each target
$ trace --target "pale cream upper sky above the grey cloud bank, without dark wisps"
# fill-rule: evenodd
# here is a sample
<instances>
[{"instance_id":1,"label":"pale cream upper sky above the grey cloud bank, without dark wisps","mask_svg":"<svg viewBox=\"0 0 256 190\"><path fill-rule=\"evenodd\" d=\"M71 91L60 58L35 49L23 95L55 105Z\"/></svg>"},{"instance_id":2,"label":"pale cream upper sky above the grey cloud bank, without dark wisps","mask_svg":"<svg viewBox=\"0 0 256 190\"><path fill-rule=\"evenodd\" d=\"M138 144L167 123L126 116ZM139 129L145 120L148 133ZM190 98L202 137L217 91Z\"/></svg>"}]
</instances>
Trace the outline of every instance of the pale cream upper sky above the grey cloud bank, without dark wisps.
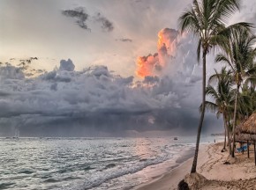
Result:
<instances>
[{"instance_id":1,"label":"pale cream upper sky above the grey cloud bank, without dark wisps","mask_svg":"<svg viewBox=\"0 0 256 190\"><path fill-rule=\"evenodd\" d=\"M6 38L1 41L4 51L0 51L0 57L2 61L5 58L8 60L10 57L30 55L60 60L68 55L72 57L73 62L76 62L77 69L82 69L85 62L92 64L101 62L109 69L116 70L123 76L129 76L134 73L135 65L132 63L138 55L156 52L155 35L159 28L176 26L180 11L184 10L184 4L189 3L188 0L185 1L186 3L177 0L150 1L150 4L147 0L141 1L140 4L130 0L115 1L113 4L109 4L109 1L103 3L101 1L77 3L61 0L40 3L26 1L23 4L17 4L16 0L6 1L0 7L2 10L0 18L3 18L6 24L1 28ZM76 24L79 18L62 14L62 11L76 11L77 7L82 7L89 15L85 25L92 33L87 33L88 30L83 30ZM15 14L8 14L13 10L16 10ZM102 33L102 23L94 19L98 12L113 24L112 32ZM17 20L19 22L16 22ZM119 38L131 39L132 43L121 43L121 41L117 43L115 40ZM90 56L81 55L81 52ZM117 55L120 59L113 59L112 55ZM47 70L56 65L56 62L44 60L40 62L42 62L40 67ZM120 62L122 64L119 64ZM124 67L127 69L123 69Z\"/></svg>"}]
</instances>

